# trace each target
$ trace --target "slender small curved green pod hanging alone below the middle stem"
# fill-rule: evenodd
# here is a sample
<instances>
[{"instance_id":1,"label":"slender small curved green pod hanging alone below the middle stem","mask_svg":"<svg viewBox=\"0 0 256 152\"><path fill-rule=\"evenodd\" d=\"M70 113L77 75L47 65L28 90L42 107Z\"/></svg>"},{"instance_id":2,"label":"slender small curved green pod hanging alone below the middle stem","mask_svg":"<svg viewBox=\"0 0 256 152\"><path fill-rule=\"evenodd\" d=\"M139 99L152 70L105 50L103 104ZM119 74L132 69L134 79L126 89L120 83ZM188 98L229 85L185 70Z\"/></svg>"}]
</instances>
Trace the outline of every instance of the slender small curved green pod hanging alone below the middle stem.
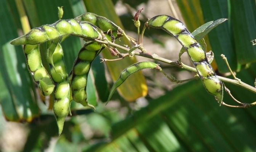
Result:
<instances>
[{"instance_id":1,"label":"slender small curved green pod hanging alone below the middle stem","mask_svg":"<svg viewBox=\"0 0 256 152\"><path fill-rule=\"evenodd\" d=\"M135 63L129 67L127 67L125 70L123 70L119 76L119 78L117 79L117 81L115 81L113 87L110 90L109 93L109 98L107 100L107 103L109 102L110 98L112 97L114 91L117 89L117 87L119 87L123 82L125 82L125 80L133 73L139 71L139 70L143 70L146 68L156 68L158 65L154 62L138 62Z\"/></svg>"}]
</instances>

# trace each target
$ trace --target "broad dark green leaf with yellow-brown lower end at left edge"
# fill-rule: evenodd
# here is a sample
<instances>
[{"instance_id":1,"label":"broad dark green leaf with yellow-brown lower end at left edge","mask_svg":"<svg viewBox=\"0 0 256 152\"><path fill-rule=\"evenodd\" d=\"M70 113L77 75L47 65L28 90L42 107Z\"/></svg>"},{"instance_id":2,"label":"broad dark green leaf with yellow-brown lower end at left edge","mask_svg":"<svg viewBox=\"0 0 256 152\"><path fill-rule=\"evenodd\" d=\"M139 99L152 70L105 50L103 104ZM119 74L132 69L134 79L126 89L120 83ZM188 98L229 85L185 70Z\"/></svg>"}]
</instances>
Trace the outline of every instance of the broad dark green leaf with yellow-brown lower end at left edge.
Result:
<instances>
[{"instance_id":1,"label":"broad dark green leaf with yellow-brown lower end at left edge","mask_svg":"<svg viewBox=\"0 0 256 152\"><path fill-rule=\"evenodd\" d=\"M11 17L9 6L1 1L0 16L3 23L0 25L0 62L1 78L0 101L5 118L10 121L30 122L40 113L32 79L27 71L24 53L21 46L9 44L16 37L16 27ZM15 24L14 24L15 25Z\"/></svg>"}]
</instances>

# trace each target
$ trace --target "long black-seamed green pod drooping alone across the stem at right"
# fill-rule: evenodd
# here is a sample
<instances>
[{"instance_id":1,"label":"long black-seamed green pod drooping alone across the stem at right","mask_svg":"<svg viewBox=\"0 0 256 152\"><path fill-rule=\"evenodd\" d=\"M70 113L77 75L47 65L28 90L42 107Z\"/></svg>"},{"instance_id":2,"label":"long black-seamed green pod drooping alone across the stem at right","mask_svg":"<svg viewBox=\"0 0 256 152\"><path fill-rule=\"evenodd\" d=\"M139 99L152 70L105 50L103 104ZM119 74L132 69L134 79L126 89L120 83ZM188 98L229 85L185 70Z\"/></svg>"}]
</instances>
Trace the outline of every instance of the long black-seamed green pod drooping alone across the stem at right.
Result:
<instances>
[{"instance_id":1,"label":"long black-seamed green pod drooping alone across the stem at right","mask_svg":"<svg viewBox=\"0 0 256 152\"><path fill-rule=\"evenodd\" d=\"M202 80L205 89L207 92L214 95L219 105L221 105L223 99L223 84L208 62L205 50L203 50L202 46L200 46L194 36L187 30L185 25L171 16L159 15L149 19L145 23L145 26L161 28L174 36L179 43L181 43L197 69L198 76Z\"/></svg>"}]
</instances>

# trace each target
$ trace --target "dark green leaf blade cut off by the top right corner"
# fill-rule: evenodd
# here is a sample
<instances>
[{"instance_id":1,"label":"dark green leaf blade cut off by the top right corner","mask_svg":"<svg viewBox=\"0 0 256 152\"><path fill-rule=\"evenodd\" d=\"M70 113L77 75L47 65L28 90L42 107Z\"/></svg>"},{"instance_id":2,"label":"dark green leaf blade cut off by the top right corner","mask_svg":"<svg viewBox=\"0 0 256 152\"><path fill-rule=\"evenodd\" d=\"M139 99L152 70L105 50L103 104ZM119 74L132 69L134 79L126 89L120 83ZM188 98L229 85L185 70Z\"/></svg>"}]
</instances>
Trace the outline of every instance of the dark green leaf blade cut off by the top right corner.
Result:
<instances>
[{"instance_id":1,"label":"dark green leaf blade cut off by the top right corner","mask_svg":"<svg viewBox=\"0 0 256 152\"><path fill-rule=\"evenodd\" d=\"M256 47L251 40L256 38L256 5L254 0L230 1L231 26L237 61L246 64L256 61ZM226 54L225 54L226 55Z\"/></svg>"}]
</instances>

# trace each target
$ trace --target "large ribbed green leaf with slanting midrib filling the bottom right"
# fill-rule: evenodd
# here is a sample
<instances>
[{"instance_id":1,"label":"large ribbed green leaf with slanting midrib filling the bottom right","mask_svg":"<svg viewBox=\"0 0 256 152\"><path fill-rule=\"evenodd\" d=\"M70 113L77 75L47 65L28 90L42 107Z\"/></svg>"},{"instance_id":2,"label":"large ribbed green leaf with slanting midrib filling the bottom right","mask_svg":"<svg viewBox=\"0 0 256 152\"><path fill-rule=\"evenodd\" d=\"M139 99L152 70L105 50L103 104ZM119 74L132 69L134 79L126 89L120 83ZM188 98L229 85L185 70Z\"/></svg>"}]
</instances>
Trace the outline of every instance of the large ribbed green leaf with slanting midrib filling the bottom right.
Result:
<instances>
[{"instance_id":1,"label":"large ribbed green leaf with slanting midrib filling the bottom right","mask_svg":"<svg viewBox=\"0 0 256 152\"><path fill-rule=\"evenodd\" d=\"M248 72L254 68L255 65ZM246 71L242 71L244 76ZM247 74L247 79L252 79L249 77ZM229 87L238 100L256 98L255 94L238 88ZM202 82L196 80L166 92L125 120L114 123L112 141L92 145L86 151L128 151L136 147L134 141L143 143L145 151L254 151L256 114L249 113L254 108L219 107L203 90ZM224 96L225 102L236 105L226 93Z\"/></svg>"}]
</instances>

